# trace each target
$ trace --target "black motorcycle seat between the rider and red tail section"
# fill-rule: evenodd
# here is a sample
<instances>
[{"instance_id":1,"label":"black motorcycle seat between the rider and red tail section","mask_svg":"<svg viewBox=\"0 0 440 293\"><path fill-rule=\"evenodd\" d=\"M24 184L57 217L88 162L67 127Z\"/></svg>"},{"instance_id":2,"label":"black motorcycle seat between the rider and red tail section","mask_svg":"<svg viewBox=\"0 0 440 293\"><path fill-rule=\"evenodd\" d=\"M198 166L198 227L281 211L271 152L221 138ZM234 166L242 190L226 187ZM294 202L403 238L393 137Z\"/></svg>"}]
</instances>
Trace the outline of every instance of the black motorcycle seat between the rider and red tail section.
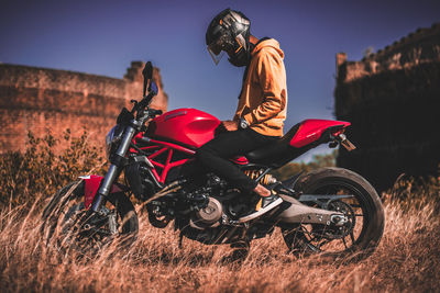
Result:
<instances>
[{"instance_id":1,"label":"black motorcycle seat between the rider and red tail section","mask_svg":"<svg viewBox=\"0 0 440 293\"><path fill-rule=\"evenodd\" d=\"M282 165L286 154L292 153L289 145L292 138L298 132L300 123L294 125L282 138L264 145L244 155L252 164L262 164L271 167Z\"/></svg>"}]
</instances>

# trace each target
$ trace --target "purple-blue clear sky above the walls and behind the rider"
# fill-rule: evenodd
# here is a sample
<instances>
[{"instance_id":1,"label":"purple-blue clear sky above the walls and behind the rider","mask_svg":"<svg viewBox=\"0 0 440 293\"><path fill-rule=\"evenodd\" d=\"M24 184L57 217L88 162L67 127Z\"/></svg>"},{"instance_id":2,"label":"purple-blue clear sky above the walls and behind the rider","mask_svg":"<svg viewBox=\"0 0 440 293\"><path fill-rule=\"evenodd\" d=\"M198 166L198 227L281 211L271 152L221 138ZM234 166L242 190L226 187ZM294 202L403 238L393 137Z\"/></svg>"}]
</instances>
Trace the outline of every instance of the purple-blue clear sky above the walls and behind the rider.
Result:
<instances>
[{"instance_id":1,"label":"purple-blue clear sky above the walls and behind the rider","mask_svg":"<svg viewBox=\"0 0 440 293\"><path fill-rule=\"evenodd\" d=\"M209 22L226 8L242 11L253 35L277 40L285 53L285 133L305 119L334 119L338 52L359 60L369 47L440 22L439 0L0 0L0 63L122 78L132 60L151 60L168 110L230 120L244 69L227 58L216 66L205 44Z\"/></svg>"}]
</instances>

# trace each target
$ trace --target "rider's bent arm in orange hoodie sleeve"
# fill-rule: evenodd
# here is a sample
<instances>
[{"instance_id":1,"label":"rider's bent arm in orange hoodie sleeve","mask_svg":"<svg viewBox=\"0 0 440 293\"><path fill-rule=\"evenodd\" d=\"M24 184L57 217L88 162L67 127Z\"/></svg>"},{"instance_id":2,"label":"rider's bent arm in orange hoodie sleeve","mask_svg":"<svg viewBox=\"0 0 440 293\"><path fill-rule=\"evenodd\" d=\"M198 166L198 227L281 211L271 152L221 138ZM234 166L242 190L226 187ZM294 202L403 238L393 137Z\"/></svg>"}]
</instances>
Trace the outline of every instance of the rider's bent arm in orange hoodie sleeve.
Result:
<instances>
[{"instance_id":1,"label":"rider's bent arm in orange hoodie sleeve","mask_svg":"<svg viewBox=\"0 0 440 293\"><path fill-rule=\"evenodd\" d=\"M286 106L286 76L283 60L270 52L261 54L256 68L263 102L243 117L249 125L258 124L276 116Z\"/></svg>"}]
</instances>

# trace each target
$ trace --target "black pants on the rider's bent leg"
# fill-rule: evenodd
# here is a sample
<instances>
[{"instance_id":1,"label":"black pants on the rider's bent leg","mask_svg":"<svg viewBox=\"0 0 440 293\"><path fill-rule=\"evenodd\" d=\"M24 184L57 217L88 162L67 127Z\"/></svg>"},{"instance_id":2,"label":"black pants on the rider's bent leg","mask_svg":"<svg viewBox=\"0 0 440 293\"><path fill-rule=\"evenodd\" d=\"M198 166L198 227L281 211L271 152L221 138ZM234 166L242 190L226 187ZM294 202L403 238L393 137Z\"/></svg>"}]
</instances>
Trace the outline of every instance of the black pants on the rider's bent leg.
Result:
<instances>
[{"instance_id":1,"label":"black pants on the rider's bent leg","mask_svg":"<svg viewBox=\"0 0 440 293\"><path fill-rule=\"evenodd\" d=\"M277 137L265 136L250 128L224 132L200 147L196 153L196 157L206 169L228 180L229 183L241 191L250 192L256 187L256 182L245 176L229 159L245 155L275 139Z\"/></svg>"}]
</instances>

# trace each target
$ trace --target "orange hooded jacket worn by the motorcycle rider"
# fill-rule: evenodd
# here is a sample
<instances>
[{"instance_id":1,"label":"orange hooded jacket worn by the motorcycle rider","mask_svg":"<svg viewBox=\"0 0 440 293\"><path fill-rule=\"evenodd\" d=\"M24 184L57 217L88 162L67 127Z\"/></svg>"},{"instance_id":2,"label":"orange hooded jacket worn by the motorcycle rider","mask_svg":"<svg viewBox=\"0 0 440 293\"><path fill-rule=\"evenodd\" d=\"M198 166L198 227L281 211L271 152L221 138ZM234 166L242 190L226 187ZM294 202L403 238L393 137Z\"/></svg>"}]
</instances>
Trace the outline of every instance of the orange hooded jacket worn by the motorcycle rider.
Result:
<instances>
[{"instance_id":1,"label":"orange hooded jacket worn by the motorcycle rider","mask_svg":"<svg viewBox=\"0 0 440 293\"><path fill-rule=\"evenodd\" d=\"M253 131L263 135L283 136L287 110L283 59L278 42L270 38L258 43L243 80L234 120L245 119Z\"/></svg>"}]
</instances>

